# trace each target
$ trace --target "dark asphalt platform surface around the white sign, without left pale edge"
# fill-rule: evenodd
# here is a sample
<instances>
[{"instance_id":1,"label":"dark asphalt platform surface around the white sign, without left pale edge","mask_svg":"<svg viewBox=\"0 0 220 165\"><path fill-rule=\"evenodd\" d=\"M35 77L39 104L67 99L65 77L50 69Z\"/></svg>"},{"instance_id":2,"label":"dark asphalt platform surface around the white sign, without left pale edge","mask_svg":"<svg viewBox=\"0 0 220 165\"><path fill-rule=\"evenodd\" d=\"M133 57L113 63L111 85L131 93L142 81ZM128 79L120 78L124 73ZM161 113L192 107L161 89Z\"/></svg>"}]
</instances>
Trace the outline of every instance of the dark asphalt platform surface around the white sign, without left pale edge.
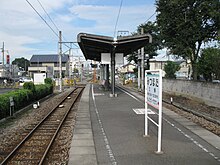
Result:
<instances>
[{"instance_id":1,"label":"dark asphalt platform surface around the white sign, without left pale edge","mask_svg":"<svg viewBox=\"0 0 220 165\"><path fill-rule=\"evenodd\" d=\"M116 89L117 98L110 98L109 92L92 85L90 92L90 113L92 130L100 165L217 165L220 164L220 138L188 120L164 109L161 155L157 150L157 127L150 124L149 138L144 138L144 115L138 115L133 108L143 108L141 96L129 96ZM137 98L139 97L139 98ZM214 137L210 144L193 133L182 123L194 127L197 132ZM212 141L212 139L211 139ZM216 145L215 145L216 144Z\"/></svg>"}]
</instances>

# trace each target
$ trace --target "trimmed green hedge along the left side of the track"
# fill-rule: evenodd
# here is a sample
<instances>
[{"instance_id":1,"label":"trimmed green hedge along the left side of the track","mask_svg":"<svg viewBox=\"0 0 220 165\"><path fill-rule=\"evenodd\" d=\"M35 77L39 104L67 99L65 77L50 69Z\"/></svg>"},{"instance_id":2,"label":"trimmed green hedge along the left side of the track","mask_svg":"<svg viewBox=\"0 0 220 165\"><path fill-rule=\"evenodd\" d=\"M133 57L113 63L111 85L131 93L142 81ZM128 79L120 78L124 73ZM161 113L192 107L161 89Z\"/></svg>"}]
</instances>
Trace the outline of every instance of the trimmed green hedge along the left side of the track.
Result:
<instances>
[{"instance_id":1,"label":"trimmed green hedge along the left side of the track","mask_svg":"<svg viewBox=\"0 0 220 165\"><path fill-rule=\"evenodd\" d=\"M0 95L0 119L10 115L9 97L13 97L14 112L16 112L30 103L53 93L53 86L51 84L34 86L32 86L32 84L29 82L24 84L24 88L28 89L18 89Z\"/></svg>"}]
</instances>

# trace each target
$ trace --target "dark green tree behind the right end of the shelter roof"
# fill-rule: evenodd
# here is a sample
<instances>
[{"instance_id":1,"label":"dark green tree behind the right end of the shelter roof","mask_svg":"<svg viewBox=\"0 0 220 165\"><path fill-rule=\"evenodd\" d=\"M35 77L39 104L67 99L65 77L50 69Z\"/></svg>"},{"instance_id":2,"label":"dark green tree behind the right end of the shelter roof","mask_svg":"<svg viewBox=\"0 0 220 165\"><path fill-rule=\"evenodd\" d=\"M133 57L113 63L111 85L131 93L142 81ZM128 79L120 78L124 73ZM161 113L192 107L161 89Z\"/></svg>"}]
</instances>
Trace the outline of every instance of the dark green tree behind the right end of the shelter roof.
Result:
<instances>
[{"instance_id":1,"label":"dark green tree behind the right end of the shelter roof","mask_svg":"<svg viewBox=\"0 0 220 165\"><path fill-rule=\"evenodd\" d=\"M151 44L147 44L144 47L144 54L149 55L149 59L153 56L157 56L157 50L162 48L162 39L160 37L160 32L157 24L155 22L147 22L146 24L142 24L138 26L137 33L141 34L141 28L144 29L144 33L149 33L152 35L153 42ZM135 33L134 35L136 35ZM147 68L149 69L149 59L147 60ZM128 56L127 60L131 62L132 60L137 64L138 62L138 53L135 52Z\"/></svg>"}]
</instances>

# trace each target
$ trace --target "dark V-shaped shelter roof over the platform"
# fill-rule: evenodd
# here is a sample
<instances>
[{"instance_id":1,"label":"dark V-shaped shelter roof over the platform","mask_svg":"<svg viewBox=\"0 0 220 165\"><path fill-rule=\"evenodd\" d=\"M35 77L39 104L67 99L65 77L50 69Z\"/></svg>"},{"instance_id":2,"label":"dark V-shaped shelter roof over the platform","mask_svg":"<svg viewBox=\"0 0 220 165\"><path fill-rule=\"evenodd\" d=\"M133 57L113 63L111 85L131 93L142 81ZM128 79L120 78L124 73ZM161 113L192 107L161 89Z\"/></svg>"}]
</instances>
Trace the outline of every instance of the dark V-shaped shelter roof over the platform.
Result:
<instances>
[{"instance_id":1,"label":"dark V-shaped shelter roof over the platform","mask_svg":"<svg viewBox=\"0 0 220 165\"><path fill-rule=\"evenodd\" d=\"M150 34L113 37L79 33L77 42L86 59L101 61L101 53L124 53L124 56L152 42Z\"/></svg>"}]
</instances>

